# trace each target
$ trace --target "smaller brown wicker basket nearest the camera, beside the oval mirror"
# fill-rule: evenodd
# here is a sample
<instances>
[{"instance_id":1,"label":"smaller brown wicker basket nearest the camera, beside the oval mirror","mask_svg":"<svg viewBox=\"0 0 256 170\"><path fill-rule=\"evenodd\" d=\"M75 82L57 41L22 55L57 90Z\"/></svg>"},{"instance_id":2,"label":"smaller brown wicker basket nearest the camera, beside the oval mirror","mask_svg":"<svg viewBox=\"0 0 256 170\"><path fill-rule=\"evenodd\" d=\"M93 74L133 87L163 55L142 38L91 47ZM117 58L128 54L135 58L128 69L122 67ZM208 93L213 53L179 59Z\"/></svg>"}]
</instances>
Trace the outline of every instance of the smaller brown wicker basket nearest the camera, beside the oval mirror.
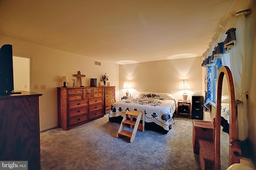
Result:
<instances>
[{"instance_id":1,"label":"smaller brown wicker basket nearest the camera, beside the oval mirror","mask_svg":"<svg viewBox=\"0 0 256 170\"><path fill-rule=\"evenodd\" d=\"M199 139L199 160L202 170L213 170L214 167L214 142Z\"/></svg>"}]
</instances>

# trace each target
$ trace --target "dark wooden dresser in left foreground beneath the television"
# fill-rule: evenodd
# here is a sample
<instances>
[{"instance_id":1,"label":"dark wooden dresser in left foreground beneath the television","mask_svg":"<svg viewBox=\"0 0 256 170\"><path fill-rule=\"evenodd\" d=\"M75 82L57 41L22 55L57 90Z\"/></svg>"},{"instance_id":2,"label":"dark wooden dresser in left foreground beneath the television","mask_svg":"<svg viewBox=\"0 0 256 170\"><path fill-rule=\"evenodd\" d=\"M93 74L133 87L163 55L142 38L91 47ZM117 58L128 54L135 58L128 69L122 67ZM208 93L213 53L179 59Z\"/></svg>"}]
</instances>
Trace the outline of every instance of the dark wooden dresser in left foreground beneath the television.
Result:
<instances>
[{"instance_id":1,"label":"dark wooden dresser in left foreground beneath the television","mask_svg":"<svg viewBox=\"0 0 256 170\"><path fill-rule=\"evenodd\" d=\"M21 92L0 96L0 160L28 161L28 170L40 170L39 96L42 94Z\"/></svg>"}]
</instances>

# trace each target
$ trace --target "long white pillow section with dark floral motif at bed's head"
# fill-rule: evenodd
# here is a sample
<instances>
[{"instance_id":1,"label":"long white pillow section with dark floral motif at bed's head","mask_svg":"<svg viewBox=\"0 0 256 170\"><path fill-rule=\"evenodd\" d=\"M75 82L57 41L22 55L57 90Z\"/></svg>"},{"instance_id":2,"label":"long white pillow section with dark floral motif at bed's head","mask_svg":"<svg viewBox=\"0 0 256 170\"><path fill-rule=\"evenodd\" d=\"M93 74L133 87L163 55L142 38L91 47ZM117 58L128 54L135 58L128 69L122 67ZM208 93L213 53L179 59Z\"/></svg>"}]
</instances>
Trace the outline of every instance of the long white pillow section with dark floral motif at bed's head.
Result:
<instances>
[{"instance_id":1,"label":"long white pillow section with dark floral motif at bed's head","mask_svg":"<svg viewBox=\"0 0 256 170\"><path fill-rule=\"evenodd\" d=\"M157 93L157 92L148 92L144 91L134 96L135 98L156 98L156 99L167 99L167 100L175 100L173 95L170 93Z\"/></svg>"}]
</instances>

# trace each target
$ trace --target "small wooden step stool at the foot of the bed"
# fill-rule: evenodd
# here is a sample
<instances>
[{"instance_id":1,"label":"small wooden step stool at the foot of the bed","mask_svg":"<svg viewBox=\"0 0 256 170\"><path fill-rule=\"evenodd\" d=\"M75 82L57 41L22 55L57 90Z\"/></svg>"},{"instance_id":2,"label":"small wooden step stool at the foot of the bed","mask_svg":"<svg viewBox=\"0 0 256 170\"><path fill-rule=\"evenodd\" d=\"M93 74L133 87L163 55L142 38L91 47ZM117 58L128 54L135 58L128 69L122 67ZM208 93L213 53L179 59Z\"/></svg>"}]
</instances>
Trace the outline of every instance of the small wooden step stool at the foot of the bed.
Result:
<instances>
[{"instance_id":1,"label":"small wooden step stool at the foot of the bed","mask_svg":"<svg viewBox=\"0 0 256 170\"><path fill-rule=\"evenodd\" d=\"M128 116L130 116L130 120L127 120ZM140 111L130 111L128 113L125 113L124 118L121 122L121 125L119 127L119 130L116 134L116 137L118 138L119 135L123 135L123 136L128 136L130 137L130 142L133 142L137 129L141 130L142 132L144 132L145 129L145 111L140 112ZM136 121L133 121L133 118L136 117ZM140 123L140 119L142 118L142 123ZM124 126L125 124L130 125L130 128L133 128L133 131L127 131L124 130Z\"/></svg>"}]
</instances>

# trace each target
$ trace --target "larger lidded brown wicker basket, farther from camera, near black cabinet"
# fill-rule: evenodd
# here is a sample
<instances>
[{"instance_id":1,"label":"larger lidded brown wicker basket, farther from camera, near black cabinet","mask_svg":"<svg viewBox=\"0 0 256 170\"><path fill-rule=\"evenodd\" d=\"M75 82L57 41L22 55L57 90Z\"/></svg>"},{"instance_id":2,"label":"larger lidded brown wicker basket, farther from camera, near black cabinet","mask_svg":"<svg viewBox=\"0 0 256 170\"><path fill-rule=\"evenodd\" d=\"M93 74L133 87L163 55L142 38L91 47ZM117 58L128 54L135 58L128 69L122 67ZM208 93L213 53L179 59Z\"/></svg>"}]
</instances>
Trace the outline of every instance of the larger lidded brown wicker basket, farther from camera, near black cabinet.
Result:
<instances>
[{"instance_id":1,"label":"larger lidded brown wicker basket, farther from camera, near black cabinet","mask_svg":"<svg viewBox=\"0 0 256 170\"><path fill-rule=\"evenodd\" d=\"M193 120L193 150L199 153L198 139L213 141L213 125L210 121Z\"/></svg>"}]
</instances>

